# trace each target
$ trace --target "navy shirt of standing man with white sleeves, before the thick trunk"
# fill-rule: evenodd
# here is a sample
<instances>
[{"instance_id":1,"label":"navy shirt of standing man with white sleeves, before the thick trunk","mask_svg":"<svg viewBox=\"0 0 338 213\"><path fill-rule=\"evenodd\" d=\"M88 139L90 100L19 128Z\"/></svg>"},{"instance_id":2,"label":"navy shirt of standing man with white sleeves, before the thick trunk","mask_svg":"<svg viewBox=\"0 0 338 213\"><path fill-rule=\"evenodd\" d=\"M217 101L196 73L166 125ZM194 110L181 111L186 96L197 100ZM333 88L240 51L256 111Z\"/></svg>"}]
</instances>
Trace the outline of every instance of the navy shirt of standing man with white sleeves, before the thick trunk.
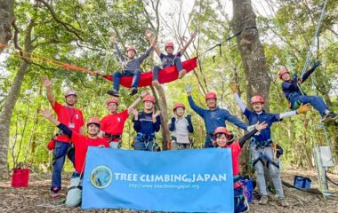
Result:
<instances>
[{"instance_id":1,"label":"navy shirt of standing man with white sleeves, before the thick trunk","mask_svg":"<svg viewBox=\"0 0 338 213\"><path fill-rule=\"evenodd\" d=\"M264 130L261 130L261 133L257 136L254 135L253 138L257 141L269 141L271 139L271 126L273 122L280 122L279 114L268 114L263 110L261 114L257 114L253 111L245 108L244 115L249 120L249 125L254 125L256 122L266 122L268 127Z\"/></svg>"}]
</instances>

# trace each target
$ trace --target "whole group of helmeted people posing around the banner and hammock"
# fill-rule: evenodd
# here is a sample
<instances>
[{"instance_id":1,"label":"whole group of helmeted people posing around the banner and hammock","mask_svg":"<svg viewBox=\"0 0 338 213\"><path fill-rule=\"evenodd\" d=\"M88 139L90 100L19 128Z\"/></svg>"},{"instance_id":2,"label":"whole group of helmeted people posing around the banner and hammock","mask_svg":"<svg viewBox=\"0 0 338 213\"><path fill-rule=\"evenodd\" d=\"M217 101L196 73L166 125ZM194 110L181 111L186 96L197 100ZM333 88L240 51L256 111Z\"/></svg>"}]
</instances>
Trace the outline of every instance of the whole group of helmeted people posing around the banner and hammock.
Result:
<instances>
[{"instance_id":1,"label":"whole group of helmeted people posing around the banner and hammock","mask_svg":"<svg viewBox=\"0 0 338 213\"><path fill-rule=\"evenodd\" d=\"M181 67L181 55L184 53L189 43L196 36L194 34L186 46L173 55L173 43L165 43L165 51L167 54L161 53L156 47L156 39L149 31L146 32L151 47L148 51L135 58L136 50L134 47L128 47L126 50L127 57L123 56L119 51L117 43L114 43L117 54L121 59L123 72L115 72L114 89L108 91L109 95L114 96L107 102L109 114L103 118L91 117L85 123L87 136L84 136L84 115L80 109L75 107L77 101L76 91L67 91L65 93L65 105L61 105L52 96L52 82L44 77L44 86L47 91L47 99L52 105L52 109L57 114L54 118L48 110L42 110L41 114L50 120L60 129L60 132L52 139L49 144L53 149L53 168L52 168L52 197L58 197L61 189L61 170L65 162L66 156L74 164L75 172L70 181L70 189L68 190L66 204L68 206L76 206L81 202L81 185L84 174L84 161L88 146L101 146L120 148L121 138L125 126L125 121L129 114L133 114L133 129L136 131L133 147L135 150L158 151L156 144L156 132L161 128L161 112L155 111L156 99L150 95L148 91L141 91L140 96L133 101L133 104L118 112L119 106L119 80L123 76L133 75L133 85L131 95L138 93L138 82L140 80L141 69L140 64L150 51L154 48L157 55L162 59L162 67L154 67L153 85L158 86L158 74L161 69L168 66L176 66L179 76L185 75L185 70ZM115 39L111 38L112 42ZM234 98L237 101L242 113L248 122L241 122L236 116L229 113L227 109L217 106L217 94L209 91L205 94L205 102L207 108L197 106L191 96L192 86L188 85L185 91L188 95L189 106L196 112L205 122L205 148L229 148L232 154L232 168L234 176L234 192L235 192L235 211L244 211L245 198L243 195L243 187L239 180L239 163L238 156L245 142L250 139L250 150L252 153L252 161L255 169L255 176L259 186L262 199L260 204L266 205L269 202L266 181L264 178L264 167L270 170L273 185L278 194L278 203L281 206L288 206L285 199L279 173L278 157L283 150L271 139L271 125L274 122L280 122L283 118L294 116L296 114L305 114L313 106L323 117L323 122L334 120L337 122L337 115L330 112L323 99L314 96L306 96L300 85L309 75L318 67L320 63L316 62L314 66L301 78L291 78L287 69L279 71L278 75L283 81L282 88L286 95L286 99L291 102L293 111L283 114L270 114L264 111L264 99L262 96L256 95L251 98L251 108L247 108L237 94L237 84L230 85ZM143 110L138 112L136 106L142 101ZM176 103L173 106L173 117L167 123L168 129L171 131L171 148L186 149L190 146L189 134L194 132L191 121L191 115L185 115L186 106L182 103ZM248 131L243 138L236 139L227 130L226 122L229 121L242 130Z\"/></svg>"}]
</instances>

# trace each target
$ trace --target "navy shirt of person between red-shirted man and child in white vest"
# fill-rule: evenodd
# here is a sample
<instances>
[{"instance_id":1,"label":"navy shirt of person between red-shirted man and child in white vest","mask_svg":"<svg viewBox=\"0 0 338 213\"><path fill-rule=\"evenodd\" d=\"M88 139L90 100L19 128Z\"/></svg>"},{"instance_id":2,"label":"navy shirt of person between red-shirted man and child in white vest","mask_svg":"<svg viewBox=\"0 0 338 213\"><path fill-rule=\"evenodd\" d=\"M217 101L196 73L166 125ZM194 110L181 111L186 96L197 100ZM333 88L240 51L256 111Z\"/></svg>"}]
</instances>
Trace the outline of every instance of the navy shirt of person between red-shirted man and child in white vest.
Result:
<instances>
[{"instance_id":1,"label":"navy shirt of person between red-shirted man and child in white vest","mask_svg":"<svg viewBox=\"0 0 338 213\"><path fill-rule=\"evenodd\" d=\"M156 122L153 122L152 119L153 113L146 114L145 112L139 113L139 120L135 121L133 118L133 129L138 133L145 135L154 134L155 131L159 131L161 127L161 116L158 115Z\"/></svg>"}]
</instances>

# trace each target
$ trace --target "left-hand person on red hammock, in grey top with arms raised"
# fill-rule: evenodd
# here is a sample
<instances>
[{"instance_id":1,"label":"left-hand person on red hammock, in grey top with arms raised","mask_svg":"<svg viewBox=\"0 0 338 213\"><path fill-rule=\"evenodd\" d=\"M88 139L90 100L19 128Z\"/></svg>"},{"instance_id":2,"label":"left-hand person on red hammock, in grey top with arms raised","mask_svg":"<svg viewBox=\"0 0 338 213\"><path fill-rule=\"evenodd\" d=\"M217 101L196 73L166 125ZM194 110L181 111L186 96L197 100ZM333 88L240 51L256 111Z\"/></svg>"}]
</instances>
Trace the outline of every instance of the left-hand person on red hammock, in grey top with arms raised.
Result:
<instances>
[{"instance_id":1,"label":"left-hand person on red hammock, in grey top with arms raised","mask_svg":"<svg viewBox=\"0 0 338 213\"><path fill-rule=\"evenodd\" d=\"M140 65L144 59L149 57L149 53L150 51L153 50L153 45L155 41L154 43L151 43L151 46L148 48L148 50L138 58L135 58L137 51L134 46L128 46L128 48L126 49L127 57L125 57L120 51L120 49L118 48L117 42L114 36L110 37L110 42L114 43L114 47L117 51L118 58L121 61L123 70L122 72L115 71L113 73L114 89L107 91L107 93L111 96L119 97L120 95L118 91L120 89L120 78L123 76L133 76L132 91L130 92L130 95L134 95L137 93L137 87L140 82L140 77L141 77Z\"/></svg>"}]
</instances>

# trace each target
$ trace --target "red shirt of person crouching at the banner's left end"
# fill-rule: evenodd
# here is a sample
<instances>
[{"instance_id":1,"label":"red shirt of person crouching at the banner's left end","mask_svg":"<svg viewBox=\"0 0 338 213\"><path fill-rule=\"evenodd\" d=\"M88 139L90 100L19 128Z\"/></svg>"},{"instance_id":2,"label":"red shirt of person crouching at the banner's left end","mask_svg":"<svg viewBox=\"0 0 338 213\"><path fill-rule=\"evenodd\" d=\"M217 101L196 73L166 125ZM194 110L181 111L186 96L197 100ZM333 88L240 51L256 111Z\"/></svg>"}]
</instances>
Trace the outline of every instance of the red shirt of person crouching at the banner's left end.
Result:
<instances>
[{"instance_id":1,"label":"red shirt of person crouching at the banner's left end","mask_svg":"<svg viewBox=\"0 0 338 213\"><path fill-rule=\"evenodd\" d=\"M82 174L84 173L84 161L87 154L88 146L105 146L109 147L107 138L88 138L80 135L76 131L72 132L71 141L75 146L75 170Z\"/></svg>"}]
</instances>

